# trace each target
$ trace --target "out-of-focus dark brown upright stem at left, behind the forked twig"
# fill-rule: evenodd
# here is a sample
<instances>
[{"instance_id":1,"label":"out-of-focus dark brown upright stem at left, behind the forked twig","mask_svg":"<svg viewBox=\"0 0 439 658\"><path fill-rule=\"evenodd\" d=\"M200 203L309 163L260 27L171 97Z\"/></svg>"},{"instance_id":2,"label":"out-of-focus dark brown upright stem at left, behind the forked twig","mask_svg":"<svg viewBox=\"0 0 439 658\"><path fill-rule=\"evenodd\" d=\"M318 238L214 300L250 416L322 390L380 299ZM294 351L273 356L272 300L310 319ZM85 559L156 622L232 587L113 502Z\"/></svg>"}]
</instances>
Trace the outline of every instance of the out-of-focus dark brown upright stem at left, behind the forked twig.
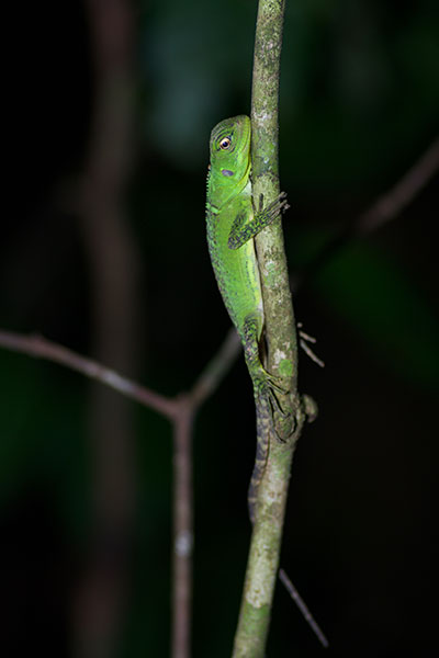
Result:
<instances>
[{"instance_id":1,"label":"out-of-focus dark brown upright stem at left, behind the forked twig","mask_svg":"<svg viewBox=\"0 0 439 658\"><path fill-rule=\"evenodd\" d=\"M133 161L133 16L127 0L88 0L94 98L81 229L90 270L93 353L134 374L138 257L124 208ZM92 384L91 536L74 609L75 658L111 658L125 613L134 521L131 405Z\"/></svg>"}]
</instances>

